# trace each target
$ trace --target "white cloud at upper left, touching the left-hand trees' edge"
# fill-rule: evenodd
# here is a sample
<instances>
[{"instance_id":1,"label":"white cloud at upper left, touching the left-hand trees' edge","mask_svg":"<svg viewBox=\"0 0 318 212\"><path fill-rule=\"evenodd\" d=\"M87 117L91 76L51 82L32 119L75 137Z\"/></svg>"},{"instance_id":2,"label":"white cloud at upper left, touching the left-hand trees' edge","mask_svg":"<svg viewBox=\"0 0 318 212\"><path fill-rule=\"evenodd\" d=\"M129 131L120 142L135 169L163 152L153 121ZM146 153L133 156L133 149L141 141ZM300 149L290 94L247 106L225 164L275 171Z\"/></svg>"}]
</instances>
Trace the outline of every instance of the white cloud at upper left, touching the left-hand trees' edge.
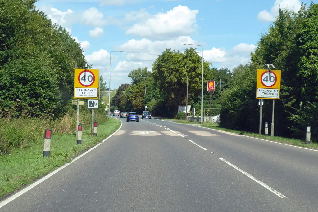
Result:
<instances>
[{"instance_id":1,"label":"white cloud at upper left, touching the left-hand trees' edge","mask_svg":"<svg viewBox=\"0 0 318 212\"><path fill-rule=\"evenodd\" d=\"M52 23L57 23L65 27L69 32L72 31L72 26L77 21L74 11L70 9L62 12L56 8L53 8L52 5L41 5L38 9L44 11L47 17L52 20Z\"/></svg>"}]
</instances>

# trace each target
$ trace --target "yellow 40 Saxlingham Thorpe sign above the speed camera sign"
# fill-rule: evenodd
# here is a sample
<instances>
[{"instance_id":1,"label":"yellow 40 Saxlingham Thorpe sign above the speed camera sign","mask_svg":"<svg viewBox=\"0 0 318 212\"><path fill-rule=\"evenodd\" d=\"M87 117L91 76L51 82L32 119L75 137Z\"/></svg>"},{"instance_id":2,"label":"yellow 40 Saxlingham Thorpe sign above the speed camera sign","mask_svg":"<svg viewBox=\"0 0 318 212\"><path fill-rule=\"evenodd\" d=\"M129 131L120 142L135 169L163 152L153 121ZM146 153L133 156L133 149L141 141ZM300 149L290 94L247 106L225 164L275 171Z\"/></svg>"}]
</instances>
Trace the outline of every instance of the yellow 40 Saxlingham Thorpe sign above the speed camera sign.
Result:
<instances>
[{"instance_id":1,"label":"yellow 40 Saxlingham Thorpe sign above the speed camera sign","mask_svg":"<svg viewBox=\"0 0 318 212\"><path fill-rule=\"evenodd\" d=\"M98 99L99 98L99 70L75 69L74 70L74 98Z\"/></svg>"}]
</instances>

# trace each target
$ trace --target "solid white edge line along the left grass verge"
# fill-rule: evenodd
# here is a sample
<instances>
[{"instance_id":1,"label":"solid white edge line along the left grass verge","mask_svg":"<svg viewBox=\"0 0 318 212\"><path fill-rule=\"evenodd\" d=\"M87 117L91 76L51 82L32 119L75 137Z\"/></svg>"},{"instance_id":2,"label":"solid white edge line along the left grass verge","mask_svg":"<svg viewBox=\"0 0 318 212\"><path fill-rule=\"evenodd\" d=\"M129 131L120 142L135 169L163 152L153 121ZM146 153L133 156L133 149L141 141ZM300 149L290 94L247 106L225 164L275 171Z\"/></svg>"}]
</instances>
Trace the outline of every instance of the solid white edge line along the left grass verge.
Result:
<instances>
[{"instance_id":1,"label":"solid white edge line along the left grass verge","mask_svg":"<svg viewBox=\"0 0 318 212\"><path fill-rule=\"evenodd\" d=\"M115 118L115 117L113 117ZM116 118L117 119L117 118ZM119 119L118 119L119 120ZM38 181L32 183L31 185L29 185L28 187L22 189L21 191L19 191L18 193L16 193L13 196L10 196L8 199L5 199L3 202L0 202L0 208L2 208L3 206L5 206L6 204L8 204L9 202L11 202L12 200L16 199L17 197L23 195L25 192L31 190L32 188L34 188L35 186L37 186L38 184L40 184L41 182L45 181L46 179L48 179L49 177L53 176L54 174L58 173L60 170L64 169L66 166L70 165L71 163L73 163L74 161L76 161L77 159L81 158L82 156L86 155L87 153L89 153L90 151L92 151L93 149L95 149L96 147L98 147L101 143L105 142L108 138L110 138L111 136L113 136L116 132L118 132L121 129L122 126L122 121L119 120L121 122L120 127L110 136L108 136L106 139L104 139L103 141L101 141L100 143L98 143L97 145L95 145L94 147L92 147L91 149L87 150L86 152L84 152L83 154L81 154L80 156L76 157L73 159L72 162L70 163L66 163L65 165L63 165L62 167L54 170L53 172L49 173L48 175L42 177L41 179L39 179Z\"/></svg>"}]
</instances>

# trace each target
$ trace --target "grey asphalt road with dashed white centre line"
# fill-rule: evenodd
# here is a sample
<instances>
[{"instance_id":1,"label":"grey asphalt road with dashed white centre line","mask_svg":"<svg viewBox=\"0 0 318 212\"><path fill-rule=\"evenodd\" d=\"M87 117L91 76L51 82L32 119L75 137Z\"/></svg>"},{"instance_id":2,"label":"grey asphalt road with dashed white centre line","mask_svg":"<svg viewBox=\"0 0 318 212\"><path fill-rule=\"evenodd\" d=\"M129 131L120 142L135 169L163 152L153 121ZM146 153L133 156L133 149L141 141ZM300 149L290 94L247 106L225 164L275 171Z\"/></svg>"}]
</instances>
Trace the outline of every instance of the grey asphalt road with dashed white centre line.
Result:
<instances>
[{"instance_id":1,"label":"grey asphalt road with dashed white centre line","mask_svg":"<svg viewBox=\"0 0 318 212\"><path fill-rule=\"evenodd\" d=\"M317 151L119 119L114 136L0 211L318 211Z\"/></svg>"}]
</instances>

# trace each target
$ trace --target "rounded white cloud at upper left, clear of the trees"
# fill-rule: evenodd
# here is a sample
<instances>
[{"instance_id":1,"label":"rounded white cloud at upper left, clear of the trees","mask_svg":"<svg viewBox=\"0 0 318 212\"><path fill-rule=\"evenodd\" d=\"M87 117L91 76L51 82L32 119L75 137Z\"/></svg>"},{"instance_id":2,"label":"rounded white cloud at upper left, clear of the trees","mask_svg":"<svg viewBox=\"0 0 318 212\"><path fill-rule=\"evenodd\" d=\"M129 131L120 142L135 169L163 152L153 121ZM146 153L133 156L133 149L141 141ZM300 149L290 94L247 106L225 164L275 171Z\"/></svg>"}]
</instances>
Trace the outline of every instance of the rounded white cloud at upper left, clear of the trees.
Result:
<instances>
[{"instance_id":1,"label":"rounded white cloud at upper left, clear of the trees","mask_svg":"<svg viewBox=\"0 0 318 212\"><path fill-rule=\"evenodd\" d=\"M81 23L88 26L104 26L107 24L106 20L103 20L104 15L96 8L91 7L85 10L81 16Z\"/></svg>"}]
</instances>

